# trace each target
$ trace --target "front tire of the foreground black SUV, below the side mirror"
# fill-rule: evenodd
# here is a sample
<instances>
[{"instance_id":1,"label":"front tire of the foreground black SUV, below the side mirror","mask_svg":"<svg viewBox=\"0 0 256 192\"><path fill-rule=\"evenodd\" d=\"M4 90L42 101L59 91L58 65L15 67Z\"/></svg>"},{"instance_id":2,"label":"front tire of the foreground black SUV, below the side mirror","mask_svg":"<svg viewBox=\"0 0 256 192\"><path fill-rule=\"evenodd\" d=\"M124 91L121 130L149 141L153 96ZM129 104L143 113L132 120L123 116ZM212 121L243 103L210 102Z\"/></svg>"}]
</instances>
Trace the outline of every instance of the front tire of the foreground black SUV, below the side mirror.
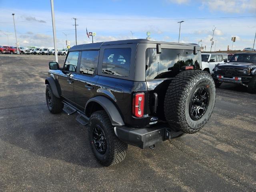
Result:
<instances>
[{"instance_id":1,"label":"front tire of the foreground black SUV, below the side mirror","mask_svg":"<svg viewBox=\"0 0 256 192\"><path fill-rule=\"evenodd\" d=\"M49 92L49 94L51 96L51 99L52 99L52 104L51 105L48 102L48 92ZM54 94L52 92L52 88L49 84L46 85L45 95L46 95L46 104L47 104L47 107L48 107L49 111L52 114L57 114L57 113L62 112L63 103L62 103L60 98L54 96Z\"/></svg>"}]
</instances>

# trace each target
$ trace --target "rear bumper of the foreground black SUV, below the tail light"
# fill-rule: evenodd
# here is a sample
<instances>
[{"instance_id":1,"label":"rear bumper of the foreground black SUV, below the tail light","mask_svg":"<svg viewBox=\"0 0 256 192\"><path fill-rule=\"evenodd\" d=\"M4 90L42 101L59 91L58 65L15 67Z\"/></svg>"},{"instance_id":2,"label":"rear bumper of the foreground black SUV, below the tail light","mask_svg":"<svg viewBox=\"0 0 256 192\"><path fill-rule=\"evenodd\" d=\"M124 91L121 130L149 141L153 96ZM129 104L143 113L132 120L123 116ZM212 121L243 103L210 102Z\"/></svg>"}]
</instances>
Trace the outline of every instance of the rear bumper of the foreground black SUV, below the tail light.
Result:
<instances>
[{"instance_id":1,"label":"rear bumper of the foreground black SUV, below the tail light","mask_svg":"<svg viewBox=\"0 0 256 192\"><path fill-rule=\"evenodd\" d=\"M169 127L164 125L153 128L116 126L114 129L116 136L118 136L120 140L142 149L183 134L181 131L174 132Z\"/></svg>"}]
</instances>

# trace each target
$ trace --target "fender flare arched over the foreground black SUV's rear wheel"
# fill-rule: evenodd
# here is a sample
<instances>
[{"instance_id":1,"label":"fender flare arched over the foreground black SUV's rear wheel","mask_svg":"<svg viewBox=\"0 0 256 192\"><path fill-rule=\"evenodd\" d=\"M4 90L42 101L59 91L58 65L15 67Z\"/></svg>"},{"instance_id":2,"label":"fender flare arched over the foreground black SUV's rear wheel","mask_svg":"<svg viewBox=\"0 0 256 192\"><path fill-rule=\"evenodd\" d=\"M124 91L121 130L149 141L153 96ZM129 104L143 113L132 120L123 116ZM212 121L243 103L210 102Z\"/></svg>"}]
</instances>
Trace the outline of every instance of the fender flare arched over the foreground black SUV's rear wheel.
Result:
<instances>
[{"instance_id":1,"label":"fender flare arched over the foreground black SUV's rear wheel","mask_svg":"<svg viewBox=\"0 0 256 192\"><path fill-rule=\"evenodd\" d=\"M104 108L104 110L107 112L113 126L124 125L124 121L120 115L120 112L108 98L106 98L104 96L96 96L94 98L91 98L90 100L88 100L86 102L85 111L90 102L96 102L96 103L100 104L100 106L102 106L102 108Z\"/></svg>"}]
</instances>

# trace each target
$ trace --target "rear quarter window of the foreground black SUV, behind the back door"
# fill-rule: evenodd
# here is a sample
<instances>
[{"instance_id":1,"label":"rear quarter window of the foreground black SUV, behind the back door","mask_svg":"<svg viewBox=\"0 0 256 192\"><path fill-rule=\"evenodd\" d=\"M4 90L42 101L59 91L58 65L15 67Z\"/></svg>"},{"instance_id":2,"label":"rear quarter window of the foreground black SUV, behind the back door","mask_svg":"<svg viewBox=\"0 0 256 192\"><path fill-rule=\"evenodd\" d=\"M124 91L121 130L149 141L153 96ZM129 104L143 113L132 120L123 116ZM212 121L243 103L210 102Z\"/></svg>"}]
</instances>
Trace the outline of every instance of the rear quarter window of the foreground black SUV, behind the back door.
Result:
<instances>
[{"instance_id":1,"label":"rear quarter window of the foreground black SUV, behind the back door","mask_svg":"<svg viewBox=\"0 0 256 192\"><path fill-rule=\"evenodd\" d=\"M131 48L105 49L102 73L128 77L130 73Z\"/></svg>"}]
</instances>

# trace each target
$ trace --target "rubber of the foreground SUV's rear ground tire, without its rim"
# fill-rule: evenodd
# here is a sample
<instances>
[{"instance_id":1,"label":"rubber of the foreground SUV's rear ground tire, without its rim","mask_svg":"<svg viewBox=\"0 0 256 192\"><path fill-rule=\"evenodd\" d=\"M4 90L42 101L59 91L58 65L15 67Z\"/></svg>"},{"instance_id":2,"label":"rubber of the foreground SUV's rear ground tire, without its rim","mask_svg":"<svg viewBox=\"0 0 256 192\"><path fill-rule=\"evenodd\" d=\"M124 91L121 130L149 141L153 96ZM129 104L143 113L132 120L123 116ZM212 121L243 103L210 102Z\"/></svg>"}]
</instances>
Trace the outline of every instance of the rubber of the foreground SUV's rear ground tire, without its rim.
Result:
<instances>
[{"instance_id":1,"label":"rubber of the foreground SUV's rear ground tire, without its rim","mask_svg":"<svg viewBox=\"0 0 256 192\"><path fill-rule=\"evenodd\" d=\"M106 152L100 154L93 142L93 130L96 126L102 128L106 137ZM120 163L126 157L128 144L122 142L115 134L108 114L104 111L96 111L90 116L88 138L94 156L104 166L112 166Z\"/></svg>"}]
</instances>

